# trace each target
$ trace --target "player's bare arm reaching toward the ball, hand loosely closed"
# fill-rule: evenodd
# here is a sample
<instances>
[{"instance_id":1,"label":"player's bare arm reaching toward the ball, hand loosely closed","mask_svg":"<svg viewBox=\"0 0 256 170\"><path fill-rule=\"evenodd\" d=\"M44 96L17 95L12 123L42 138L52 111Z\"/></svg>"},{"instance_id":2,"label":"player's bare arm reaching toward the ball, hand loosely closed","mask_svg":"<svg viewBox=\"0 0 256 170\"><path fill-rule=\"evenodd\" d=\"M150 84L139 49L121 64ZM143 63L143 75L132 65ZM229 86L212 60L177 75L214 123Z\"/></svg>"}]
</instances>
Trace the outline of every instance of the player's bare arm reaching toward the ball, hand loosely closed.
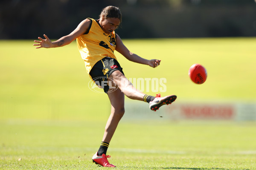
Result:
<instances>
[{"instance_id":1,"label":"player's bare arm reaching toward the ball, hand loosely closed","mask_svg":"<svg viewBox=\"0 0 256 170\"><path fill-rule=\"evenodd\" d=\"M132 62L137 62L140 64L149 65L150 67L157 67L160 65L161 60L160 59L144 59L137 54L132 53L131 51L126 48L126 46L123 44L121 38L116 34L116 51L118 51L120 54L122 54L125 58Z\"/></svg>"}]
</instances>

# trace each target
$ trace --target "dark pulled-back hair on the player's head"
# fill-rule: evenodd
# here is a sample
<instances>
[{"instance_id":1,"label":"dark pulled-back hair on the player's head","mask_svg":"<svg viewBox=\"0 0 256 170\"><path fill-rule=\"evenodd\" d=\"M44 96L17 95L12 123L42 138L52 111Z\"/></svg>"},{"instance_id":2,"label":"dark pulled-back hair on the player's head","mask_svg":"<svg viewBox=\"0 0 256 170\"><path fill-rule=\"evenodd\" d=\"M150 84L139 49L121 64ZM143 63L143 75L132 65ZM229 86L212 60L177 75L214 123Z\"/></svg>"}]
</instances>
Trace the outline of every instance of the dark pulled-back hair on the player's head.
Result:
<instances>
[{"instance_id":1,"label":"dark pulled-back hair on the player's head","mask_svg":"<svg viewBox=\"0 0 256 170\"><path fill-rule=\"evenodd\" d=\"M107 6L102 9L99 17L105 18L118 18L120 22L122 22L122 13L118 7L115 6Z\"/></svg>"}]
</instances>

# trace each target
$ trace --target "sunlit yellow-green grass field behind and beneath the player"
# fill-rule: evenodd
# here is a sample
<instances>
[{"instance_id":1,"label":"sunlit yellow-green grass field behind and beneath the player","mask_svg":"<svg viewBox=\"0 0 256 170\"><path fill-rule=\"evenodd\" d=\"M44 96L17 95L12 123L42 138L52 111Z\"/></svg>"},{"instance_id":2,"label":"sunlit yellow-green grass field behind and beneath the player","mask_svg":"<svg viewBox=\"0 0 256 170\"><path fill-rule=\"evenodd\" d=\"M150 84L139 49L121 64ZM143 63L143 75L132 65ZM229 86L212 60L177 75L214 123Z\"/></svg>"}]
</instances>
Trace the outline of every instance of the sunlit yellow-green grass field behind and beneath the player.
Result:
<instances>
[{"instance_id":1,"label":"sunlit yellow-green grass field behind and beneath the player","mask_svg":"<svg viewBox=\"0 0 256 170\"><path fill-rule=\"evenodd\" d=\"M161 95L176 94L175 103L256 102L256 38L124 43L141 57L162 60L150 68L116 53L126 77L166 78ZM0 41L0 169L102 169L91 157L110 112L108 96L88 88L75 42L52 49L32 44ZM207 68L203 85L188 77L194 63ZM154 121L121 120L108 154L120 170L256 170L256 122L170 121L158 115Z\"/></svg>"}]
</instances>

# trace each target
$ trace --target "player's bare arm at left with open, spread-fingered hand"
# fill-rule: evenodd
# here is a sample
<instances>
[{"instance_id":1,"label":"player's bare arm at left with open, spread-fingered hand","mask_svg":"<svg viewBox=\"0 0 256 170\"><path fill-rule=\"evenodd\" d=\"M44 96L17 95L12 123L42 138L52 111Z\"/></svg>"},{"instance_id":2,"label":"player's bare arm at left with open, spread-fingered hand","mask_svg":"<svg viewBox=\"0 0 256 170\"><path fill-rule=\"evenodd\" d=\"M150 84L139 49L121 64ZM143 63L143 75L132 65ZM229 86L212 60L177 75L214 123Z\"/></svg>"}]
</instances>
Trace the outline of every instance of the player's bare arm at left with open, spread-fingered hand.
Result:
<instances>
[{"instance_id":1,"label":"player's bare arm at left with open, spread-fingered hand","mask_svg":"<svg viewBox=\"0 0 256 170\"><path fill-rule=\"evenodd\" d=\"M89 28L89 26L90 26L90 20L85 19L77 26L77 28L74 31L72 31L70 34L64 37L61 37L57 41L52 42L47 37L47 35L44 34L45 39L38 37L40 41L35 40L34 42L36 42L37 44L34 44L34 46L38 46L36 48L54 48L54 47L62 47L64 45L68 45L74 40L76 40L77 37L84 34Z\"/></svg>"}]
</instances>

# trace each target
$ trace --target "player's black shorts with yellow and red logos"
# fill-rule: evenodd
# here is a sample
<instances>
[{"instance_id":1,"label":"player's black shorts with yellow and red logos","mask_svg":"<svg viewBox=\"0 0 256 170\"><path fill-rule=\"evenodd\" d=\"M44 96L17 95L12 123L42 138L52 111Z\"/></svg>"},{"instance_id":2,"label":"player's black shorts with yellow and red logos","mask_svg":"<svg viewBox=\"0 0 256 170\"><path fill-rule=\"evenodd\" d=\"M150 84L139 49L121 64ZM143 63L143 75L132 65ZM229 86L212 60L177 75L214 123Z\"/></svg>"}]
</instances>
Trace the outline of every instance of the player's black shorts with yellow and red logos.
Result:
<instances>
[{"instance_id":1,"label":"player's black shorts with yellow and red logos","mask_svg":"<svg viewBox=\"0 0 256 170\"><path fill-rule=\"evenodd\" d=\"M125 75L116 59L105 57L93 65L89 74L96 85L98 85L99 88L103 88L104 92L108 94L109 86L106 82L108 81L108 77L116 70L121 71L121 73Z\"/></svg>"}]
</instances>

